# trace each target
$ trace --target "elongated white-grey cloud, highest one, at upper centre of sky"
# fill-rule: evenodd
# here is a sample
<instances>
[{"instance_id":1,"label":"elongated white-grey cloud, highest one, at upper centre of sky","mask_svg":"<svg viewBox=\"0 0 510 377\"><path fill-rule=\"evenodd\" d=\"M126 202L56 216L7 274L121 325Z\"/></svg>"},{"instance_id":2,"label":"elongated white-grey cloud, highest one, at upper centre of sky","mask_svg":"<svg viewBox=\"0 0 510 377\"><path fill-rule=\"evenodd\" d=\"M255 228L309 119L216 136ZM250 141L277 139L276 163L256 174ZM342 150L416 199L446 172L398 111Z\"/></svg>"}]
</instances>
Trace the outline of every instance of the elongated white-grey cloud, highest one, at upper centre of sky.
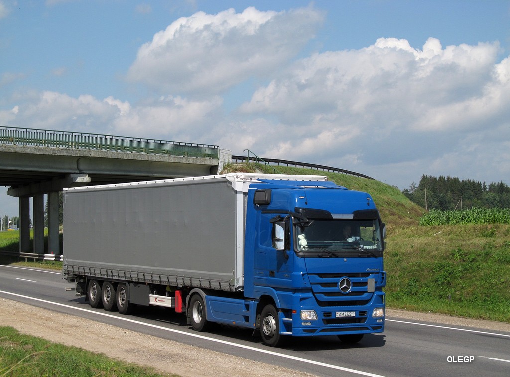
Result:
<instances>
[{"instance_id":1,"label":"elongated white-grey cloud, highest one, at upper centre of sky","mask_svg":"<svg viewBox=\"0 0 510 377\"><path fill-rule=\"evenodd\" d=\"M128 77L162 92L214 95L287 64L313 38L321 20L312 8L198 12L144 44Z\"/></svg>"}]
</instances>

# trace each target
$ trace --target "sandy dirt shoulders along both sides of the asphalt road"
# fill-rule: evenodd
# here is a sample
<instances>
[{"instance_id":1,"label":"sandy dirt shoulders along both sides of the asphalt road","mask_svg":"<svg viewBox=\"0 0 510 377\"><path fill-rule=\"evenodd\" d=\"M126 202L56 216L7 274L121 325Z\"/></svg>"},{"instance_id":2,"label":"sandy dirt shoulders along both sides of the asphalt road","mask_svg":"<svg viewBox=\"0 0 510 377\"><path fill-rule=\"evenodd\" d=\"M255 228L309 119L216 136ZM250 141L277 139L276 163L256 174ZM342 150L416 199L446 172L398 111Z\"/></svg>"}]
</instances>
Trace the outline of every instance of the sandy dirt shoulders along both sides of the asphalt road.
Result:
<instances>
[{"instance_id":1,"label":"sandy dirt shoulders along both sides of the asphalt road","mask_svg":"<svg viewBox=\"0 0 510 377\"><path fill-rule=\"evenodd\" d=\"M388 310L388 317L439 322L510 332L510 323L473 320L432 313ZM35 320L36 319L36 320ZM293 369L256 362L191 345L57 313L0 298L0 320L23 334L81 347L111 358L150 365L163 373L182 376L311 376ZM108 336L104 336L108 334Z\"/></svg>"}]
</instances>

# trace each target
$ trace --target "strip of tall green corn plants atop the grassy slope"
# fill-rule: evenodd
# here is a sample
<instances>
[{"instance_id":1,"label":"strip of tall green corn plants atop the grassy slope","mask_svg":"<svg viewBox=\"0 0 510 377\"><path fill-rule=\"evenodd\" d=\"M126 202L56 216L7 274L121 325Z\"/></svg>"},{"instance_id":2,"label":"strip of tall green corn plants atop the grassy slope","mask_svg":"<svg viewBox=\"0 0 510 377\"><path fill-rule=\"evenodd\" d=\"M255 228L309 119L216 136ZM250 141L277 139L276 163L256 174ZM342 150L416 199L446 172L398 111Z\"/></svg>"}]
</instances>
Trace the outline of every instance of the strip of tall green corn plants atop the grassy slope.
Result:
<instances>
[{"instance_id":1,"label":"strip of tall green corn plants atop the grassy slope","mask_svg":"<svg viewBox=\"0 0 510 377\"><path fill-rule=\"evenodd\" d=\"M510 224L510 208L471 208L457 211L432 209L420 225Z\"/></svg>"}]
</instances>

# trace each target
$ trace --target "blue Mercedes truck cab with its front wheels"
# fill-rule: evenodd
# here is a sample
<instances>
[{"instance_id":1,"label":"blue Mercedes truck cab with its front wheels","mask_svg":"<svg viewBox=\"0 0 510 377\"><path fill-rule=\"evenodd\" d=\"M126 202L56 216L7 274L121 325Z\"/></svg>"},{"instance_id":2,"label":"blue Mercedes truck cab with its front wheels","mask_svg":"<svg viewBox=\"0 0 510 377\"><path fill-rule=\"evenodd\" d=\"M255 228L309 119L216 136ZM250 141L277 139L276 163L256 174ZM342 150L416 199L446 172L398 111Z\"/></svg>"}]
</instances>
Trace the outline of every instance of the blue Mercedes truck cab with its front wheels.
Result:
<instances>
[{"instance_id":1,"label":"blue Mercedes truck cab with its front wheels","mask_svg":"<svg viewBox=\"0 0 510 377\"><path fill-rule=\"evenodd\" d=\"M282 336L346 342L385 325L385 224L370 195L331 181L249 186L244 295L266 344Z\"/></svg>"}]
</instances>

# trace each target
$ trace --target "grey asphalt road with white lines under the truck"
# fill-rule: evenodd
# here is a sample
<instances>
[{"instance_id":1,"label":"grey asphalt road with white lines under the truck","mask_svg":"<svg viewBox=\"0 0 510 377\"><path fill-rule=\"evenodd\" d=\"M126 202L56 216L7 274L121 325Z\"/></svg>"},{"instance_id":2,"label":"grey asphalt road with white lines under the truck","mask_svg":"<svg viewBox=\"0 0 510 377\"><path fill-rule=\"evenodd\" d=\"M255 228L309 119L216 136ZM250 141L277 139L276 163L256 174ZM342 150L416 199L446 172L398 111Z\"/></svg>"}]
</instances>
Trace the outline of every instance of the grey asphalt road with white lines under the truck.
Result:
<instances>
[{"instance_id":1,"label":"grey asphalt road with white lines under the truck","mask_svg":"<svg viewBox=\"0 0 510 377\"><path fill-rule=\"evenodd\" d=\"M271 348L246 329L197 333L169 309L143 308L131 316L92 309L65 291L71 286L57 271L0 266L0 297L317 375L510 375L509 332L389 317L385 333L366 335L355 345L310 337Z\"/></svg>"}]
</instances>

